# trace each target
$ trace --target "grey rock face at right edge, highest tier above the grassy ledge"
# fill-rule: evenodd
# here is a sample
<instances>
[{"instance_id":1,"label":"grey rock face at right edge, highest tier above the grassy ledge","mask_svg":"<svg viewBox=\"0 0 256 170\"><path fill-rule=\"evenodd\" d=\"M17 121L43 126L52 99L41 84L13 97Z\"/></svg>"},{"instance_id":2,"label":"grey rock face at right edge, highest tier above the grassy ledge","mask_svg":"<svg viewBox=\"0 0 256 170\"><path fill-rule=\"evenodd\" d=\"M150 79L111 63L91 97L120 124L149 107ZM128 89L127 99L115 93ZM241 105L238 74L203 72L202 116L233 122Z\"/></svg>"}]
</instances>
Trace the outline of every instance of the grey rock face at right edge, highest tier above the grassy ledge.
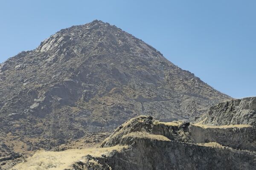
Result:
<instances>
[{"instance_id":1,"label":"grey rock face at right edge, highest tier above the grassy ledge","mask_svg":"<svg viewBox=\"0 0 256 170\"><path fill-rule=\"evenodd\" d=\"M256 125L256 97L234 99L212 106L201 119L205 125Z\"/></svg>"}]
</instances>

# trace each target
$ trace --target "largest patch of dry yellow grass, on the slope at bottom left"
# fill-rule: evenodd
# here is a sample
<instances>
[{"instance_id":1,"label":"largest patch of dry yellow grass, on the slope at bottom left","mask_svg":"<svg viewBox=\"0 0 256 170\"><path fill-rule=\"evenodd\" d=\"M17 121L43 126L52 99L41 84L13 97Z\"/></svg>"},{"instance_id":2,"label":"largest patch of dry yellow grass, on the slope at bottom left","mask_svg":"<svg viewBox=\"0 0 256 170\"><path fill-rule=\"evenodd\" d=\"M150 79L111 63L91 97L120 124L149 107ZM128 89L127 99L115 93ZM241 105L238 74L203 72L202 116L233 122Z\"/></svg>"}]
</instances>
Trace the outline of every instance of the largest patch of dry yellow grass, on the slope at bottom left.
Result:
<instances>
[{"instance_id":1,"label":"largest patch of dry yellow grass, on the slope at bottom left","mask_svg":"<svg viewBox=\"0 0 256 170\"><path fill-rule=\"evenodd\" d=\"M125 147L128 146L70 149L60 152L39 150L32 157L26 159L25 162L17 164L12 170L64 170L73 162L81 160L82 156L108 155L112 150L120 151Z\"/></svg>"}]
</instances>

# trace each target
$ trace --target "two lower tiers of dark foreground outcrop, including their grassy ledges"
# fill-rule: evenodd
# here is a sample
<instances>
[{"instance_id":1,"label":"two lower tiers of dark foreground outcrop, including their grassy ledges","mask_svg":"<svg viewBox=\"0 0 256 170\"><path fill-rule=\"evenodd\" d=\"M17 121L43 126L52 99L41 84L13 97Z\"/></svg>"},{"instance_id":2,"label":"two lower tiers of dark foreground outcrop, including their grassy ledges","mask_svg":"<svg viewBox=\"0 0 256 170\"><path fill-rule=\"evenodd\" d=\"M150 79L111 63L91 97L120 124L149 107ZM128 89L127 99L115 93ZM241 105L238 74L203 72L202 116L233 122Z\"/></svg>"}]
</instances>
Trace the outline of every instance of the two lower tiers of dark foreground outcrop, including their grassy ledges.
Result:
<instances>
[{"instance_id":1,"label":"two lower tiers of dark foreground outcrop, including their grassy ledges","mask_svg":"<svg viewBox=\"0 0 256 170\"><path fill-rule=\"evenodd\" d=\"M151 116L140 116L125 122L105 139L102 147L128 145L107 156L85 156L71 167L76 170L254 170L256 168L253 127L201 128L189 122L158 122ZM238 132L241 133L238 133ZM215 133L212 133L215 132ZM222 139L228 132L226 140ZM243 133L253 140L247 149L235 148ZM253 129L255 132L255 129ZM210 135L209 135L209 134ZM206 135L208 134L208 136ZM233 139L227 139L233 134ZM204 139L200 139L204 138ZM207 139L208 138L208 139ZM215 142L210 142L215 140ZM225 146L218 144L225 140ZM216 142L217 141L217 142ZM222 142L223 142L222 141ZM246 143L246 142L245 142ZM223 143L224 144L224 143ZM71 169L70 169L71 170Z\"/></svg>"}]
</instances>

